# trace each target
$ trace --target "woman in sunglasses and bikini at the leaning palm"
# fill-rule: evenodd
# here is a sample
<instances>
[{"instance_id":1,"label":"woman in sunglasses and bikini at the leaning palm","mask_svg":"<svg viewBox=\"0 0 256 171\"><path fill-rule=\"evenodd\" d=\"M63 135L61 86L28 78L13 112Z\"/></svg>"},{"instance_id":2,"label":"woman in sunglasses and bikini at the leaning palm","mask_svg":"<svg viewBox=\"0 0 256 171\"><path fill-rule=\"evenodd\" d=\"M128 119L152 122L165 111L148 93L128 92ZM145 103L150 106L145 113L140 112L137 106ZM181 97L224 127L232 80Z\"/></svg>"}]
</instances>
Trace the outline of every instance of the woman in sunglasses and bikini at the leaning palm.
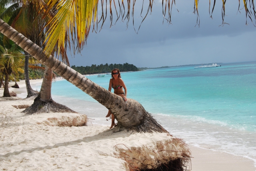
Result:
<instances>
[{"instance_id":1,"label":"woman in sunglasses and bikini at the leaning palm","mask_svg":"<svg viewBox=\"0 0 256 171\"><path fill-rule=\"evenodd\" d=\"M127 95L127 88L125 86L125 83L123 82L123 80L121 79L121 74L119 69L113 69L111 71L111 79L109 81L109 86L108 86L108 91L111 91L111 88L114 89L114 94L117 94L121 97L123 97L123 99L125 101L127 101L126 99L126 95ZM123 88L125 89L125 92L123 91ZM108 114L106 117L110 117L111 115L111 119L112 119L112 123L111 123L111 128L113 128L113 126L115 125L115 116L111 113L110 110L108 110Z\"/></svg>"}]
</instances>

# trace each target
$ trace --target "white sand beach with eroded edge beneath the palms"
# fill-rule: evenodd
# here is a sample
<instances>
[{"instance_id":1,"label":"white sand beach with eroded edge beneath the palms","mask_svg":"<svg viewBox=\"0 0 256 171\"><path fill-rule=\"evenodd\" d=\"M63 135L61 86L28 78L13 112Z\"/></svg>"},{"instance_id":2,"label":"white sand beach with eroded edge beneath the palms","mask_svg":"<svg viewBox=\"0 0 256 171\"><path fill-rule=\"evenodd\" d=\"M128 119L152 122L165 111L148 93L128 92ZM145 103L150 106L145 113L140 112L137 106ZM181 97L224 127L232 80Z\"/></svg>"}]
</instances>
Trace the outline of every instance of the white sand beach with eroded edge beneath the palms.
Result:
<instances>
[{"instance_id":1,"label":"white sand beach with eroded edge beneath the palms","mask_svg":"<svg viewBox=\"0 0 256 171\"><path fill-rule=\"evenodd\" d=\"M40 82L42 80L30 80L31 84ZM60 126L70 120L82 122L86 119L84 114L25 115L21 113L24 108L15 106L31 105L33 100L20 98L19 94L26 93L24 80L18 85L20 88L9 88L18 97L0 97L0 170L125 171L131 168L132 160L137 161L132 163L133 168L140 168L141 163L153 165L158 160L186 153L186 147L166 133L116 132L109 130L109 126L96 124ZM0 96L3 96L3 88L0 88ZM192 154L188 170L256 170L252 160L241 156L194 146L188 148Z\"/></svg>"}]
</instances>

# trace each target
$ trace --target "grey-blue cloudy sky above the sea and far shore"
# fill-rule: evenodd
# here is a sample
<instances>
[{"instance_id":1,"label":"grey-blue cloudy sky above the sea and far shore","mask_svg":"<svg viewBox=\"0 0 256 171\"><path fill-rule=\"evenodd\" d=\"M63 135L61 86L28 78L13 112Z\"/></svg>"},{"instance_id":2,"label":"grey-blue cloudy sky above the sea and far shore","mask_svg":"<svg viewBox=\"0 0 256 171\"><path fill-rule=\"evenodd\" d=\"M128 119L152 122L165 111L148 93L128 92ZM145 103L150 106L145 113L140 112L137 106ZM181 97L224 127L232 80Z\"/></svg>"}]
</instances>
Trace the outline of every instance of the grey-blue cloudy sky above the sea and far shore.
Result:
<instances>
[{"instance_id":1,"label":"grey-blue cloudy sky above the sea and far shore","mask_svg":"<svg viewBox=\"0 0 256 171\"><path fill-rule=\"evenodd\" d=\"M195 1L176 0L177 9L173 7L169 24L163 22L162 0L156 0L152 13L136 33L134 28L137 30L142 21L141 2L135 4L134 26L130 18L128 28L126 20L118 20L110 28L108 13L102 30L90 32L81 54L68 56L70 66L130 63L137 67L161 67L256 61L256 27L249 18L246 25L242 1L241 13L238 0L227 1L224 21L228 24L224 26L220 26L222 1L216 2L212 18L209 1L199 1L198 27L197 15L193 14ZM145 3L143 10L148 8Z\"/></svg>"}]
</instances>

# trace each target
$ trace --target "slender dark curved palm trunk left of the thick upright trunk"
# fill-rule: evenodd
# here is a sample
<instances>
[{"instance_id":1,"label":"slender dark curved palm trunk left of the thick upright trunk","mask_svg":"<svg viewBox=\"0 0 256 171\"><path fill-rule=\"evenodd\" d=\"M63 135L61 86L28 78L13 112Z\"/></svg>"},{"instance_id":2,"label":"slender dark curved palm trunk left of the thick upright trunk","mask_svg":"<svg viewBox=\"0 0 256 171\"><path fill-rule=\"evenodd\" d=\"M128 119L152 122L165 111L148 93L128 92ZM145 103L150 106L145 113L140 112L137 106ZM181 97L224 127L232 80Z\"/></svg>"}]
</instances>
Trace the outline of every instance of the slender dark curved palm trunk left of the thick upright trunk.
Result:
<instances>
[{"instance_id":1,"label":"slender dark curved palm trunk left of the thick upright trunk","mask_svg":"<svg viewBox=\"0 0 256 171\"><path fill-rule=\"evenodd\" d=\"M25 65L24 65L24 79L25 79L25 83L26 83L26 90L27 90L27 97L31 97L34 95L37 95L38 92L33 90L30 86L30 82L29 82L29 56L30 54L26 51L24 51L25 54Z\"/></svg>"}]
</instances>

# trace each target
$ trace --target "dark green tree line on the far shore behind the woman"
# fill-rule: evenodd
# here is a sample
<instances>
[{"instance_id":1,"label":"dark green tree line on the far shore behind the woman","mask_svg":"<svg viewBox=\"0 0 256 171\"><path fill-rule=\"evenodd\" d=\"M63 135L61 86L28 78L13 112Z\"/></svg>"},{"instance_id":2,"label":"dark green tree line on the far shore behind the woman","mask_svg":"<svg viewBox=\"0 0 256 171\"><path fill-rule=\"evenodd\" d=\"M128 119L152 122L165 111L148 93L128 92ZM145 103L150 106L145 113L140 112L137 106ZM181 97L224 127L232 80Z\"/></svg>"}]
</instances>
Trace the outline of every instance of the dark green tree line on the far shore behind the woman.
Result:
<instances>
[{"instance_id":1,"label":"dark green tree line on the far shore behind the woman","mask_svg":"<svg viewBox=\"0 0 256 171\"><path fill-rule=\"evenodd\" d=\"M112 69L118 68L121 72L125 71L139 71L139 69L133 64L110 64L106 63L105 65L100 64L98 66L71 66L74 70L78 71L81 74L100 74L100 73L108 73L111 72Z\"/></svg>"}]
</instances>

